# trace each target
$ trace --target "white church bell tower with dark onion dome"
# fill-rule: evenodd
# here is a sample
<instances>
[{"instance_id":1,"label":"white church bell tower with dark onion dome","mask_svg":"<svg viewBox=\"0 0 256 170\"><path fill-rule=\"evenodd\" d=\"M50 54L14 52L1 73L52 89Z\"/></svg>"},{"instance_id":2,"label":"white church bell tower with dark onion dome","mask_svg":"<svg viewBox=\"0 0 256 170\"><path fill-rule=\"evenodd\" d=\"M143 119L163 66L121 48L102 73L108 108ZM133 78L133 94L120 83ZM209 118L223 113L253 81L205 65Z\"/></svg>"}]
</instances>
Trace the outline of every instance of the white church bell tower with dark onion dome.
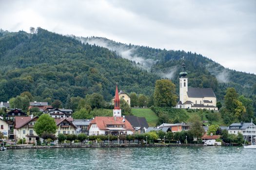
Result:
<instances>
[{"instance_id":1,"label":"white church bell tower with dark onion dome","mask_svg":"<svg viewBox=\"0 0 256 170\"><path fill-rule=\"evenodd\" d=\"M188 99L188 95L187 95L188 78L186 77L186 75L188 73L185 72L185 64L184 63L182 63L181 68L182 68L182 71L179 73L179 75L181 76L179 78L179 101L181 101L183 104Z\"/></svg>"}]
</instances>

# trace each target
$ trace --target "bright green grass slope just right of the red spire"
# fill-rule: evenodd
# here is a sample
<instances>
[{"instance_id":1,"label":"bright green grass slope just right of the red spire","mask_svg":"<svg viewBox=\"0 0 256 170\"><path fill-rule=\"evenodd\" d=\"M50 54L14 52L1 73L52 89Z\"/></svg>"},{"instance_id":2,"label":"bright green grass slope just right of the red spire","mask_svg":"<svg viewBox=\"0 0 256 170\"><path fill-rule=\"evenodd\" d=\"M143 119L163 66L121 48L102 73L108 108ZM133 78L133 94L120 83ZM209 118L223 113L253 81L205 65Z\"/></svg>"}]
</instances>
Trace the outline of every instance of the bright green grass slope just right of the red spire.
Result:
<instances>
[{"instance_id":1,"label":"bright green grass slope just right of the red spire","mask_svg":"<svg viewBox=\"0 0 256 170\"><path fill-rule=\"evenodd\" d=\"M132 109L134 116L145 117L148 125L155 127L158 122L158 116L151 109Z\"/></svg>"}]
</instances>

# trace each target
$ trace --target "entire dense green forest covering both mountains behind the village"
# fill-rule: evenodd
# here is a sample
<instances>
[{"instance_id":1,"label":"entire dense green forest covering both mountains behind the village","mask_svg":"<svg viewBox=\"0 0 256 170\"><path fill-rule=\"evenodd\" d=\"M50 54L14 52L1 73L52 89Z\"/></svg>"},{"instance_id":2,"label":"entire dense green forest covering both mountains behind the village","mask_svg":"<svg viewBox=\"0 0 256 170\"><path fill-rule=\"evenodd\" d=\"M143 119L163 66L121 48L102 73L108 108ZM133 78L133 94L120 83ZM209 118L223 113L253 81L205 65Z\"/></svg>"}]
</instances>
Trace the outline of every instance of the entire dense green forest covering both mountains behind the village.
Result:
<instances>
[{"instance_id":1,"label":"entire dense green forest covering both mountains behind the village","mask_svg":"<svg viewBox=\"0 0 256 170\"><path fill-rule=\"evenodd\" d=\"M234 87L256 106L255 74L224 68L201 54L64 36L41 28L32 34L0 31L0 101L24 91L35 101L65 103L68 95L84 98L93 93L110 101L116 82L119 90L152 96L161 77L170 78L178 93L182 62L189 86L212 87L218 101Z\"/></svg>"}]
</instances>

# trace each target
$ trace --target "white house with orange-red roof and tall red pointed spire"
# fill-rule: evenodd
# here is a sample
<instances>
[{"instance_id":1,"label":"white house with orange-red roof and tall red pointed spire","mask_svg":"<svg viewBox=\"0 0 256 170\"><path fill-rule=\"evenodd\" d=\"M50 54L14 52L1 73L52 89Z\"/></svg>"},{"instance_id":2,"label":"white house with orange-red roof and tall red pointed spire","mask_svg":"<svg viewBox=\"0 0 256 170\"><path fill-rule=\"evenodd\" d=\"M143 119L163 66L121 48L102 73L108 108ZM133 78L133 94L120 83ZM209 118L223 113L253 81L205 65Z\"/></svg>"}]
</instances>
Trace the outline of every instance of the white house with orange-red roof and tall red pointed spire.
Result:
<instances>
[{"instance_id":1,"label":"white house with orange-red roof and tall red pointed spire","mask_svg":"<svg viewBox=\"0 0 256 170\"><path fill-rule=\"evenodd\" d=\"M125 117L121 117L118 86L114 98L113 117L95 117L88 127L89 135L131 135L134 129Z\"/></svg>"}]
</instances>

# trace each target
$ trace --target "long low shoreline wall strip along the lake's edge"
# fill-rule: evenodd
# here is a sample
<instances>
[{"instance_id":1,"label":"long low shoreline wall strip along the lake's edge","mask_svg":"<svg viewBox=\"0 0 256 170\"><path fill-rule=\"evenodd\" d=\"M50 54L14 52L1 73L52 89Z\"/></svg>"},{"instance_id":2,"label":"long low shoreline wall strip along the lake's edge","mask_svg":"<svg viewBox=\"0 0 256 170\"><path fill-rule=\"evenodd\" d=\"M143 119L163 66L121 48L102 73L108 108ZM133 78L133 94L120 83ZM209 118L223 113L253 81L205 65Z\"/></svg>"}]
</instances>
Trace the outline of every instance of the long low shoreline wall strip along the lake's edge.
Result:
<instances>
[{"instance_id":1,"label":"long low shoreline wall strip along the lake's edge","mask_svg":"<svg viewBox=\"0 0 256 170\"><path fill-rule=\"evenodd\" d=\"M22 146L8 146L7 150L11 149L55 149L55 148L146 148L146 147L207 147L212 145L202 144L148 144L148 145L133 145L133 144L120 144L120 145L54 145L54 146L34 146L34 145L22 145Z\"/></svg>"}]
</instances>

